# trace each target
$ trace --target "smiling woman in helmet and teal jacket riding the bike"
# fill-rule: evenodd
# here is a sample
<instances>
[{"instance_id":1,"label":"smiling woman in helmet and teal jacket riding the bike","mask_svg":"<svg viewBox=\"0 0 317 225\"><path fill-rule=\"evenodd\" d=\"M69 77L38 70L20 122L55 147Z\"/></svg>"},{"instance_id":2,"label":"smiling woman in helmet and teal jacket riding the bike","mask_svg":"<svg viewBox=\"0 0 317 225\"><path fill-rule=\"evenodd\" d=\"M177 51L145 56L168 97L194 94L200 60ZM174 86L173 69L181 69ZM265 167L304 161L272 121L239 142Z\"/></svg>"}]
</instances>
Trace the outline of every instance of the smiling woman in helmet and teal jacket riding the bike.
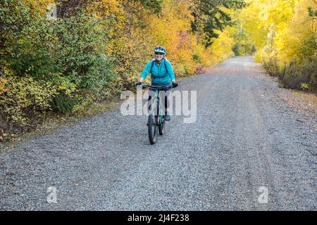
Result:
<instances>
[{"instance_id":1,"label":"smiling woman in helmet and teal jacket riding the bike","mask_svg":"<svg viewBox=\"0 0 317 225\"><path fill-rule=\"evenodd\" d=\"M141 85L143 80L147 77L149 72L151 72L151 85L163 86L172 84L173 87L178 86L175 81L175 75L173 72L172 65L165 58L166 50L162 46L157 46L154 49L154 60L151 60L145 66L141 76L139 77L139 82L137 85ZM161 91L168 91L170 89L162 89ZM151 96L149 96L149 101L151 101ZM170 120L170 115L168 113L168 100L165 95L165 120Z\"/></svg>"}]
</instances>

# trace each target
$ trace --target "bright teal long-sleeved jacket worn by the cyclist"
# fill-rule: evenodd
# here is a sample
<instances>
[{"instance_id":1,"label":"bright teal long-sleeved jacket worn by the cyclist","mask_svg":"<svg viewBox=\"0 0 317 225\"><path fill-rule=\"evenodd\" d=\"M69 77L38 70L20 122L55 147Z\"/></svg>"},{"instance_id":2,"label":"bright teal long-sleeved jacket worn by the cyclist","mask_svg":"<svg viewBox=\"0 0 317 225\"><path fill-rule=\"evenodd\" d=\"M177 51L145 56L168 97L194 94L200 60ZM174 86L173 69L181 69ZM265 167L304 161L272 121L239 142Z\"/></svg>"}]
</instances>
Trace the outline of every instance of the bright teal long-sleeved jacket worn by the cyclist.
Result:
<instances>
[{"instance_id":1,"label":"bright teal long-sleeved jacket worn by the cyclist","mask_svg":"<svg viewBox=\"0 0 317 225\"><path fill-rule=\"evenodd\" d=\"M147 63L146 67L144 68L141 74L142 78L145 79L145 77L147 77L147 75L149 74L151 70L152 62L153 60ZM151 70L151 79L152 79L152 84L154 85L169 84L172 79L175 79L172 65L166 58L162 59L161 64L159 66L154 62L153 68Z\"/></svg>"}]
</instances>

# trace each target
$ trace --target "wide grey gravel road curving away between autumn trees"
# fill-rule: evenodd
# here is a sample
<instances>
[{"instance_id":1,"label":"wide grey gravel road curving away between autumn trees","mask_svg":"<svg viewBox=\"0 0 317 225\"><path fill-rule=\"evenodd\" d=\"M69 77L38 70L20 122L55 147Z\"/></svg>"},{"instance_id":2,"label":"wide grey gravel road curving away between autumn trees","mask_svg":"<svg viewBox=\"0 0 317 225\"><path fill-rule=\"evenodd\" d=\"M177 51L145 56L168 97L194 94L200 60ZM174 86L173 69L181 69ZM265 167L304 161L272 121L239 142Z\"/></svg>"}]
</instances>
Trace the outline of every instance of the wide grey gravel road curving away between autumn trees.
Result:
<instances>
[{"instance_id":1,"label":"wide grey gravel road curving away between autumn trees","mask_svg":"<svg viewBox=\"0 0 317 225\"><path fill-rule=\"evenodd\" d=\"M154 146L146 116L113 108L1 153L0 210L317 210L316 113L252 57L178 90L197 91L197 121L173 116Z\"/></svg>"}]
</instances>

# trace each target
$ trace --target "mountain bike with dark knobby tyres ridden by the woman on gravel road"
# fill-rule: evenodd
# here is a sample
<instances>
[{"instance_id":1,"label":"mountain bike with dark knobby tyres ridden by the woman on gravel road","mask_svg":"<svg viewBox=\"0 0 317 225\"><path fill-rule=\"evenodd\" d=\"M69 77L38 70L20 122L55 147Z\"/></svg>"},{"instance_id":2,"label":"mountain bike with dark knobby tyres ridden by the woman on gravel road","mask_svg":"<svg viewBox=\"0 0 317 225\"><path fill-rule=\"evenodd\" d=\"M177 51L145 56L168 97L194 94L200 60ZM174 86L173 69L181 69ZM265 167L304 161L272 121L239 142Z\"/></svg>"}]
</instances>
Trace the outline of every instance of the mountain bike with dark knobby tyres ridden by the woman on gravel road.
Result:
<instances>
[{"instance_id":1,"label":"mountain bike with dark knobby tyres ridden by the woman on gravel road","mask_svg":"<svg viewBox=\"0 0 317 225\"><path fill-rule=\"evenodd\" d=\"M142 85L142 89L149 88L150 91L154 91L154 100L151 101L149 105L149 117L147 119L147 127L149 134L149 141L153 145L156 143L157 138L160 135L164 134L166 121L165 121L165 112L163 110L163 106L160 101L159 91L168 91L172 89L173 86L170 84L166 85ZM152 107L152 103L156 103L154 107Z\"/></svg>"}]
</instances>

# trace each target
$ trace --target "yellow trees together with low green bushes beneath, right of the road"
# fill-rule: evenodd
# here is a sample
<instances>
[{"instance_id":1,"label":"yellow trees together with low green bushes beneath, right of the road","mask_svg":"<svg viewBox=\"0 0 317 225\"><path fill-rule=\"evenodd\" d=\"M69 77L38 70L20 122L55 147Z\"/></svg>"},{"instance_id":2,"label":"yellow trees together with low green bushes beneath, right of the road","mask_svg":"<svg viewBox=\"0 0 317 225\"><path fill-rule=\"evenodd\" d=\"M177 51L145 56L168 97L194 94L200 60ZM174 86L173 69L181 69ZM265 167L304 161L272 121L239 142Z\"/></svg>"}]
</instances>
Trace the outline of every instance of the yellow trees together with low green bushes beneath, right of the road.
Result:
<instances>
[{"instance_id":1,"label":"yellow trees together with low green bushes beneath, right of the road","mask_svg":"<svg viewBox=\"0 0 317 225\"><path fill-rule=\"evenodd\" d=\"M238 12L236 55L255 53L283 86L317 93L317 1L252 0Z\"/></svg>"}]
</instances>

